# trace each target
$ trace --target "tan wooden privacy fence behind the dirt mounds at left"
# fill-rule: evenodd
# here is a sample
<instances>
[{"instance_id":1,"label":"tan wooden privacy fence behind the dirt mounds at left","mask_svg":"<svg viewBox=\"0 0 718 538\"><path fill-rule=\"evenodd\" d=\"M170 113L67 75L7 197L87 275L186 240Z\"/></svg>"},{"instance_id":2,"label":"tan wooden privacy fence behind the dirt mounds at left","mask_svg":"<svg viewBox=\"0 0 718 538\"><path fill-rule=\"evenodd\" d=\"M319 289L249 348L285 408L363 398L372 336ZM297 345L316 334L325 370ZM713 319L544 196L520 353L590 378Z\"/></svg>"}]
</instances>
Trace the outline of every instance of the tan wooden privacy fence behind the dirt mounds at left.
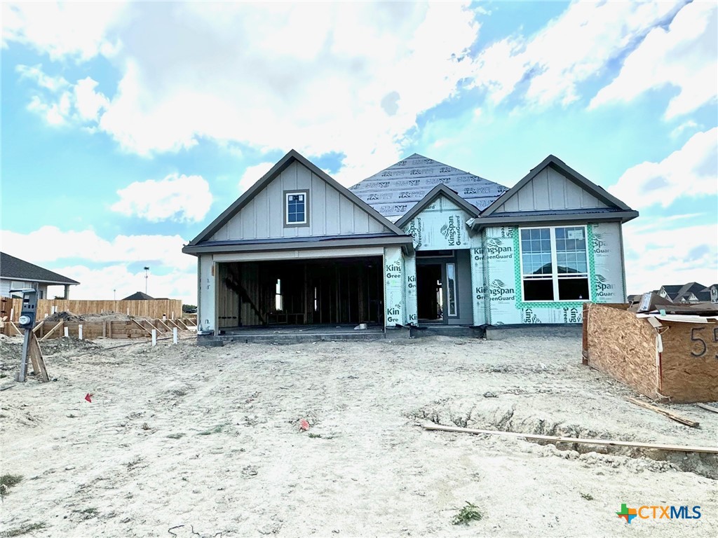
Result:
<instances>
[{"instance_id":1,"label":"tan wooden privacy fence behind the dirt mounds at left","mask_svg":"<svg viewBox=\"0 0 718 538\"><path fill-rule=\"evenodd\" d=\"M22 309L21 298L0 298L0 318L17 321ZM83 301L80 299L39 299L37 301L37 321L54 312L72 312L78 316L88 313L117 312L129 316L144 318L181 318L181 299L151 299L147 301Z\"/></svg>"}]
</instances>

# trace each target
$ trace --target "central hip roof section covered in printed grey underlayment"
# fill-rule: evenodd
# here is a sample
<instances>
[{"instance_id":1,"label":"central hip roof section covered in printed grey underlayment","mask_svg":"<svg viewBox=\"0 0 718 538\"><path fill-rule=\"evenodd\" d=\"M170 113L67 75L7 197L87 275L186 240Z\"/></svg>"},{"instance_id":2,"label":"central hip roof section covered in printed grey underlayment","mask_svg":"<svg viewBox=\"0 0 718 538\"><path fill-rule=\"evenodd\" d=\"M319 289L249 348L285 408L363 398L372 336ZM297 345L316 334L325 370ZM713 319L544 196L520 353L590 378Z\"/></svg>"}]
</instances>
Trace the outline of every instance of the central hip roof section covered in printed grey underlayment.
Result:
<instances>
[{"instance_id":1,"label":"central hip roof section covered in printed grey underlayment","mask_svg":"<svg viewBox=\"0 0 718 538\"><path fill-rule=\"evenodd\" d=\"M444 184L479 210L508 189L463 170L414 154L360 181L349 190L396 222L439 184Z\"/></svg>"}]
</instances>

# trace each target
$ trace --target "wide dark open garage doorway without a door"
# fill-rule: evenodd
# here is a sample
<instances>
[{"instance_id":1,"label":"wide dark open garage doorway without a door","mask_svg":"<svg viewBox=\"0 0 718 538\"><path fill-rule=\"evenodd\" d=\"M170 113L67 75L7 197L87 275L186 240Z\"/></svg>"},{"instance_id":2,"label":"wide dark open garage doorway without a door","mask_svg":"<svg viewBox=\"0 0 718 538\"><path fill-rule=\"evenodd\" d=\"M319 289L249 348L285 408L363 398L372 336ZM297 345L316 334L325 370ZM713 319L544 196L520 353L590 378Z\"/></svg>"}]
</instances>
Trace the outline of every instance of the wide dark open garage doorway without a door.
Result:
<instances>
[{"instance_id":1,"label":"wide dark open garage doorway without a door","mask_svg":"<svg viewBox=\"0 0 718 538\"><path fill-rule=\"evenodd\" d=\"M383 325L381 256L218 264L218 327Z\"/></svg>"}]
</instances>

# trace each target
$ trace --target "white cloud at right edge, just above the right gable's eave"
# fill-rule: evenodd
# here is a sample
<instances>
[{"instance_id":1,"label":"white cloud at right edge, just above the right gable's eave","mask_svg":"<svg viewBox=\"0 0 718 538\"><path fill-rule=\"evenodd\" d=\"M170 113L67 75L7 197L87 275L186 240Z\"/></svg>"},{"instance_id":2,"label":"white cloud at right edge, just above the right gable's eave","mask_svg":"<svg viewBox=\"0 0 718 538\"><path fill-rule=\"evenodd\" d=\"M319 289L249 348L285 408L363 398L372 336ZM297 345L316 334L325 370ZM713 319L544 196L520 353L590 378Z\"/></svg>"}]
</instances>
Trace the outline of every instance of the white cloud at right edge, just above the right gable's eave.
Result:
<instances>
[{"instance_id":1,"label":"white cloud at right edge, just above the right gable's eave","mask_svg":"<svg viewBox=\"0 0 718 538\"><path fill-rule=\"evenodd\" d=\"M626 170L610 192L632 207L668 207L682 197L718 193L718 128L696 133L660 163Z\"/></svg>"}]
</instances>

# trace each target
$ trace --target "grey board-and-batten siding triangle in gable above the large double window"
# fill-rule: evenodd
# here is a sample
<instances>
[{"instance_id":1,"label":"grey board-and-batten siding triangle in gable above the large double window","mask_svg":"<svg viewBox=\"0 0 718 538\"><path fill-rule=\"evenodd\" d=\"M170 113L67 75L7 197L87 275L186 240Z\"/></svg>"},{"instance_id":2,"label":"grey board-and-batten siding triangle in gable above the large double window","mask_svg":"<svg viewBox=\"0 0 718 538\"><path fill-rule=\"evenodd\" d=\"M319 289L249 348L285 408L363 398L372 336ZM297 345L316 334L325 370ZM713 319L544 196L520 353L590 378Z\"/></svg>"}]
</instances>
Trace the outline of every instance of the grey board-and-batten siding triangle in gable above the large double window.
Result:
<instances>
[{"instance_id":1,"label":"grey board-and-batten siding triangle in gable above the large double window","mask_svg":"<svg viewBox=\"0 0 718 538\"><path fill-rule=\"evenodd\" d=\"M546 166L495 213L510 211L541 211L542 209L589 209L607 207L595 196L568 179L551 166Z\"/></svg>"}]
</instances>

